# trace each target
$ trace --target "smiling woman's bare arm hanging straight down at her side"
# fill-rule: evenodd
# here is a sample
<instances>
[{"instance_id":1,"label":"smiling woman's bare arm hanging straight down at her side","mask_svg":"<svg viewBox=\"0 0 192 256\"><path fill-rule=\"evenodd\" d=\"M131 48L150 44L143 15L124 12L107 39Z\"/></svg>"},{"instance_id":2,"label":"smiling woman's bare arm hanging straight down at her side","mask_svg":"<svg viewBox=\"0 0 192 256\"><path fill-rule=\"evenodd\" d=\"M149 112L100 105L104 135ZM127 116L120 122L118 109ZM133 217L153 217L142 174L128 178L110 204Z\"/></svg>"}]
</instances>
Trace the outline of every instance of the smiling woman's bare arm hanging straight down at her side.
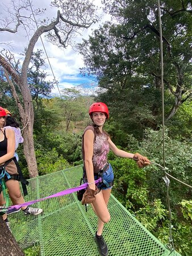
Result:
<instances>
[{"instance_id":1,"label":"smiling woman's bare arm hanging straight down at her side","mask_svg":"<svg viewBox=\"0 0 192 256\"><path fill-rule=\"evenodd\" d=\"M91 130L87 130L84 134L84 152L85 152L85 170L87 175L88 183L91 189L95 190L94 183L94 171L93 171L93 142L94 142L94 133Z\"/></svg>"}]
</instances>

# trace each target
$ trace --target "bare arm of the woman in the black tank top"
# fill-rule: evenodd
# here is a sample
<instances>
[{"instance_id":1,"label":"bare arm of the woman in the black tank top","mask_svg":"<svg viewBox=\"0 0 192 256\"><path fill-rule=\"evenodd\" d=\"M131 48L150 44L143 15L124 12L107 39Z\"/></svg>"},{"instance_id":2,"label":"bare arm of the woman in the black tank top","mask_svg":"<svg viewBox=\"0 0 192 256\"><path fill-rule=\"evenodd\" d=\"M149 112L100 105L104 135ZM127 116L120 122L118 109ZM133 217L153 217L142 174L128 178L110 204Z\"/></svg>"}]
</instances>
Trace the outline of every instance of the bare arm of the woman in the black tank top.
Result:
<instances>
[{"instance_id":1,"label":"bare arm of the woman in the black tank top","mask_svg":"<svg viewBox=\"0 0 192 256\"><path fill-rule=\"evenodd\" d=\"M0 164L5 163L7 160L14 157L15 153L15 133L11 129L6 130L6 137L7 137L7 154L1 156Z\"/></svg>"}]
</instances>

